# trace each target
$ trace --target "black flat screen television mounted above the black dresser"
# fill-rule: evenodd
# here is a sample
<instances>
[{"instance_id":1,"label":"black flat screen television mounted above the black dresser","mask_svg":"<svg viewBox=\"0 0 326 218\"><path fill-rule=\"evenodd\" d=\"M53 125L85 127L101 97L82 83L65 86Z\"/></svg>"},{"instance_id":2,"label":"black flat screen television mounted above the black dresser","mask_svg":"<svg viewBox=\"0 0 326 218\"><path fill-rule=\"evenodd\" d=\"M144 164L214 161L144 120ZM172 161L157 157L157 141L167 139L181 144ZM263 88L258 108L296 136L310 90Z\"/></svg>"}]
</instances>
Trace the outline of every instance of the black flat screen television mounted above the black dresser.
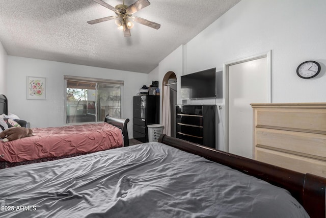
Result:
<instances>
[{"instance_id":1,"label":"black flat screen television mounted above the black dresser","mask_svg":"<svg viewBox=\"0 0 326 218\"><path fill-rule=\"evenodd\" d=\"M181 99L216 98L216 68L181 76Z\"/></svg>"}]
</instances>

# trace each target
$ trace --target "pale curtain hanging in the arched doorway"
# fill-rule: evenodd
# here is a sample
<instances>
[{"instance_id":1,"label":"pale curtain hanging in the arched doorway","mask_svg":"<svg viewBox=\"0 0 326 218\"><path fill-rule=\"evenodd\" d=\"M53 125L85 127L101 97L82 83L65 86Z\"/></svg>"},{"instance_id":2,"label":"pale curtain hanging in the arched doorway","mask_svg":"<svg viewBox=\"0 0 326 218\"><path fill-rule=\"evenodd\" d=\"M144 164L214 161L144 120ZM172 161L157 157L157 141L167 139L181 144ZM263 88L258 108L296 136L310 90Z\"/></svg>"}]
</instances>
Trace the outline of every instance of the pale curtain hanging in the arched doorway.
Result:
<instances>
[{"instance_id":1,"label":"pale curtain hanging in the arched doorway","mask_svg":"<svg viewBox=\"0 0 326 218\"><path fill-rule=\"evenodd\" d=\"M171 136L171 105L170 105L170 86L164 86L163 89L163 109L162 109L162 125L163 133Z\"/></svg>"}]
</instances>

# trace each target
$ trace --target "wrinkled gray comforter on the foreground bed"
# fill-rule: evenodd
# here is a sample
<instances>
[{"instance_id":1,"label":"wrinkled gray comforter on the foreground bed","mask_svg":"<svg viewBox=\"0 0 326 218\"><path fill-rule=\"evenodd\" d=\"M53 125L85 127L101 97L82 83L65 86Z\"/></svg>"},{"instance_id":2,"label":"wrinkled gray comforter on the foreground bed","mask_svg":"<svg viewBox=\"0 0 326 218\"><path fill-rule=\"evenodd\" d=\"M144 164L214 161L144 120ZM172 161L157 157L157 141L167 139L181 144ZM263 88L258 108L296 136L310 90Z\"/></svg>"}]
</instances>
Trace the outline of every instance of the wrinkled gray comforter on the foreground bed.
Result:
<instances>
[{"instance_id":1,"label":"wrinkled gray comforter on the foreground bed","mask_svg":"<svg viewBox=\"0 0 326 218\"><path fill-rule=\"evenodd\" d=\"M288 191L158 142L0 170L1 217L308 217Z\"/></svg>"}]
</instances>

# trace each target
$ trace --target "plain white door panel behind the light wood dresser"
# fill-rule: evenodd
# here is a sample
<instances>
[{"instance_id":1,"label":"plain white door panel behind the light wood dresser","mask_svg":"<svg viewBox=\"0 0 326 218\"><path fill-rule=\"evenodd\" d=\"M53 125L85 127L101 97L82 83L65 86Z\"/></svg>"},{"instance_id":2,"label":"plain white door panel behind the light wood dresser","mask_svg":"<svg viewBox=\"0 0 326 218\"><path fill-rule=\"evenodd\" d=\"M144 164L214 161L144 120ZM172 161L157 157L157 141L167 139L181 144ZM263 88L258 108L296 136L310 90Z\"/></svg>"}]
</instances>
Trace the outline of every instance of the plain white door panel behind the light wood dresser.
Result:
<instances>
[{"instance_id":1,"label":"plain white door panel behind the light wood dresser","mask_svg":"<svg viewBox=\"0 0 326 218\"><path fill-rule=\"evenodd\" d=\"M264 57L227 65L227 120L229 152L253 158L251 103L270 102L270 60Z\"/></svg>"}]
</instances>

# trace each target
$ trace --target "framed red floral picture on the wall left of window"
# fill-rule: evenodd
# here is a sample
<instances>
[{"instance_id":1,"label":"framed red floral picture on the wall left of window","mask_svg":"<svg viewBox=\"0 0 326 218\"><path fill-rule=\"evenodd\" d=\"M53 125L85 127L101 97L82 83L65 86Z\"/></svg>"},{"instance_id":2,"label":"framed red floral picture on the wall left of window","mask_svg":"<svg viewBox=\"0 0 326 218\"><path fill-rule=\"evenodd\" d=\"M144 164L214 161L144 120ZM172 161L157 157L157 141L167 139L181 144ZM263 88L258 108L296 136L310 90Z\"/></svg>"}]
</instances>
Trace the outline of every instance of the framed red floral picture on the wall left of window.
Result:
<instances>
[{"instance_id":1,"label":"framed red floral picture on the wall left of window","mask_svg":"<svg viewBox=\"0 0 326 218\"><path fill-rule=\"evenodd\" d=\"M26 99L46 100L46 78L45 77L27 77Z\"/></svg>"}]
</instances>

